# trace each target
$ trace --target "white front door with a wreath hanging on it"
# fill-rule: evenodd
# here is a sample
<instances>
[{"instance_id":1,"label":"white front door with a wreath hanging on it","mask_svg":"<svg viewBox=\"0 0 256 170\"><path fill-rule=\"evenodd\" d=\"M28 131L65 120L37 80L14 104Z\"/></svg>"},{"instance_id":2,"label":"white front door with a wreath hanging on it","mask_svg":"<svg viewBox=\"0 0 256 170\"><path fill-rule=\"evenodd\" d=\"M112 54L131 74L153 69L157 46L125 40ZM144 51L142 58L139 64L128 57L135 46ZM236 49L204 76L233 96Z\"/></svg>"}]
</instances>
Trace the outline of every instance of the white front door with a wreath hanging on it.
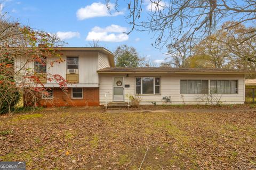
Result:
<instances>
[{"instance_id":1,"label":"white front door with a wreath hanging on it","mask_svg":"<svg viewBox=\"0 0 256 170\"><path fill-rule=\"evenodd\" d=\"M124 78L113 79L113 101L124 101Z\"/></svg>"}]
</instances>

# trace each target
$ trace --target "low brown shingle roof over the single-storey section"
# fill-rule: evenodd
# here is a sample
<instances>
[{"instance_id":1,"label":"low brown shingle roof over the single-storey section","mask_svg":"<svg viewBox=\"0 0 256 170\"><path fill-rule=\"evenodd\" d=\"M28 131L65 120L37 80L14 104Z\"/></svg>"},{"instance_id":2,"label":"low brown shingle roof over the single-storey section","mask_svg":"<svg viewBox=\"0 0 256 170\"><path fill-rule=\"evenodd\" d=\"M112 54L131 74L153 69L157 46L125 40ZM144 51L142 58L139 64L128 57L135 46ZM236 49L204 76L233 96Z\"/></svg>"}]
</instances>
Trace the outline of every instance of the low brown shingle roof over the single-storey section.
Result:
<instances>
[{"instance_id":1,"label":"low brown shingle roof over the single-storey section","mask_svg":"<svg viewBox=\"0 0 256 170\"><path fill-rule=\"evenodd\" d=\"M250 70L218 69L218 68L172 68L172 67L107 67L99 73L256 73Z\"/></svg>"}]
</instances>

